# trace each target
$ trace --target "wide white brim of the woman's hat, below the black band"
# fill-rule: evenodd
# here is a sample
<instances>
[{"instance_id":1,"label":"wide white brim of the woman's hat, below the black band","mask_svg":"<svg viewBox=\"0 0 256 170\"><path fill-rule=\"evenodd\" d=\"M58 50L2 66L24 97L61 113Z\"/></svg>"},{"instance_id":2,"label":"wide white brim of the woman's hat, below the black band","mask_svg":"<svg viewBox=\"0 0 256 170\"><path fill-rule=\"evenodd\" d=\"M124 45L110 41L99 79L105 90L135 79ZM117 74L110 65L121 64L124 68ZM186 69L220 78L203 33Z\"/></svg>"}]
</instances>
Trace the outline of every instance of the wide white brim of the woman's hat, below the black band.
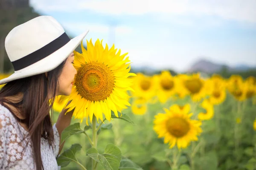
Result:
<instances>
[{"instance_id":1,"label":"wide white brim of the woman's hat, below the black band","mask_svg":"<svg viewBox=\"0 0 256 170\"><path fill-rule=\"evenodd\" d=\"M30 77L33 75L46 73L58 67L67 57L76 49L76 47L80 44L80 42L84 39L84 37L88 34L89 30L80 34L79 36L71 39L67 44L63 47L50 54L49 56L41 59L34 64L23 68L22 70L15 71L14 74L10 75L5 79L0 80L0 85L6 84L7 82L22 79L25 77Z\"/></svg>"}]
</instances>

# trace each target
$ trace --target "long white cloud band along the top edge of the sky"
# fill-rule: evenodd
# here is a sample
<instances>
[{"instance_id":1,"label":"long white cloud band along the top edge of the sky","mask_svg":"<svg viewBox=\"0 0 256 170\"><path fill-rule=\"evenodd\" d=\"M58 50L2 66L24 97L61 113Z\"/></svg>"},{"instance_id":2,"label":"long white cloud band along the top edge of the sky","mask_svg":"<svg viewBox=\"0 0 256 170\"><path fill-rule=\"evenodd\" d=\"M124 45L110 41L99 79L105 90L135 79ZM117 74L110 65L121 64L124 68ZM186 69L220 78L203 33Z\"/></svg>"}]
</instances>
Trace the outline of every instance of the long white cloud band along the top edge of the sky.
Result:
<instances>
[{"instance_id":1,"label":"long white cloud band along the top edge of the sky","mask_svg":"<svg viewBox=\"0 0 256 170\"><path fill-rule=\"evenodd\" d=\"M109 15L212 15L256 23L255 0L32 0L40 10L90 10Z\"/></svg>"}]
</instances>

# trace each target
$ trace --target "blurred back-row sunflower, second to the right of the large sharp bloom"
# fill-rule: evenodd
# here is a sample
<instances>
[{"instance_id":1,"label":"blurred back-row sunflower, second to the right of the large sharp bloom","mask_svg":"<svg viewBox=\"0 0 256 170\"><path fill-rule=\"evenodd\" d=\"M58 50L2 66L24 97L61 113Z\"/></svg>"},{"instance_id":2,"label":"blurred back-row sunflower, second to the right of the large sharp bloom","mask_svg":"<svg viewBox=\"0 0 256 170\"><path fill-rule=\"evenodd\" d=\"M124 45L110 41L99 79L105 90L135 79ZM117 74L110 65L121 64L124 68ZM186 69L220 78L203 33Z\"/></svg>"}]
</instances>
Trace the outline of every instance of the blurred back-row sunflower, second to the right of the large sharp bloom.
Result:
<instances>
[{"instance_id":1,"label":"blurred back-row sunflower, second to the right of the large sharp bloom","mask_svg":"<svg viewBox=\"0 0 256 170\"><path fill-rule=\"evenodd\" d=\"M157 96L161 103L165 103L175 94L176 78L169 71L163 71L157 75Z\"/></svg>"}]
</instances>

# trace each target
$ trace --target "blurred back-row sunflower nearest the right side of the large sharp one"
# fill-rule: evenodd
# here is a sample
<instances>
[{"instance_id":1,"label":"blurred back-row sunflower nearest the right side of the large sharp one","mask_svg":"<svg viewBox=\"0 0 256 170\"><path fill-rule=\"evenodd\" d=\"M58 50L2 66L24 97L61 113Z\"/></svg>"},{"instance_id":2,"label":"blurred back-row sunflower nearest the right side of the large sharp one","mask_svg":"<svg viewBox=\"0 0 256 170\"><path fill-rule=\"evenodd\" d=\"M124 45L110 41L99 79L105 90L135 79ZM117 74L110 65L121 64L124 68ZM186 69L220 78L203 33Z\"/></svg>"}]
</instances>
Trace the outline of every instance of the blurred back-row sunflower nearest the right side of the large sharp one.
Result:
<instances>
[{"instance_id":1,"label":"blurred back-row sunflower nearest the right side of the large sharp one","mask_svg":"<svg viewBox=\"0 0 256 170\"><path fill-rule=\"evenodd\" d=\"M133 96L143 97L146 100L151 100L156 95L156 80L155 77L149 77L142 73L138 73L134 77Z\"/></svg>"}]
</instances>

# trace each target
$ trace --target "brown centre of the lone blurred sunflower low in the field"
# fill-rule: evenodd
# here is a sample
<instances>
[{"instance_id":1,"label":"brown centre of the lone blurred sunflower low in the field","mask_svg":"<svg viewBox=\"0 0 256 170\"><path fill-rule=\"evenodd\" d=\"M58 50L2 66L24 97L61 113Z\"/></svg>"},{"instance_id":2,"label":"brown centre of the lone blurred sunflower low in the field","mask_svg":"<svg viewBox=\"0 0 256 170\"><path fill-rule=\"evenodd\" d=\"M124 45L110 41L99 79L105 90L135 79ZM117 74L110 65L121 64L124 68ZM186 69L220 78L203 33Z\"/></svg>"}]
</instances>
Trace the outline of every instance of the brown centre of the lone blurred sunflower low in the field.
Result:
<instances>
[{"instance_id":1,"label":"brown centre of the lone blurred sunflower low in the field","mask_svg":"<svg viewBox=\"0 0 256 170\"><path fill-rule=\"evenodd\" d=\"M166 128L169 133L172 134L172 136L175 136L176 138L180 138L185 136L189 132L189 123L180 117L173 117L170 118L166 122Z\"/></svg>"}]
</instances>

